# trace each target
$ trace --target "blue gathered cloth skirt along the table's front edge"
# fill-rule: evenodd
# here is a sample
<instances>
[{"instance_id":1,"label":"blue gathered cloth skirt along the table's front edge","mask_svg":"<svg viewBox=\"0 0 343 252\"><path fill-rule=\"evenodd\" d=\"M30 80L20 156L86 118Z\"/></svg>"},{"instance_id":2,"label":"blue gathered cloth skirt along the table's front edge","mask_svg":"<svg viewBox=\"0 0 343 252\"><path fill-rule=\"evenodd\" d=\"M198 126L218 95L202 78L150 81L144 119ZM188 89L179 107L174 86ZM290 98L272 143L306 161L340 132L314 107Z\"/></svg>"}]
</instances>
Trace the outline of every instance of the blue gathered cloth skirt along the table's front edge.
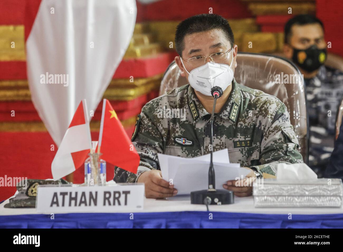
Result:
<instances>
[{"instance_id":1,"label":"blue gathered cloth skirt along the table's front edge","mask_svg":"<svg viewBox=\"0 0 343 252\"><path fill-rule=\"evenodd\" d=\"M211 216L212 214L212 216ZM130 219L131 216L131 219ZM212 217L212 219L210 219ZM73 213L0 216L0 228L343 228L343 214L224 212Z\"/></svg>"}]
</instances>

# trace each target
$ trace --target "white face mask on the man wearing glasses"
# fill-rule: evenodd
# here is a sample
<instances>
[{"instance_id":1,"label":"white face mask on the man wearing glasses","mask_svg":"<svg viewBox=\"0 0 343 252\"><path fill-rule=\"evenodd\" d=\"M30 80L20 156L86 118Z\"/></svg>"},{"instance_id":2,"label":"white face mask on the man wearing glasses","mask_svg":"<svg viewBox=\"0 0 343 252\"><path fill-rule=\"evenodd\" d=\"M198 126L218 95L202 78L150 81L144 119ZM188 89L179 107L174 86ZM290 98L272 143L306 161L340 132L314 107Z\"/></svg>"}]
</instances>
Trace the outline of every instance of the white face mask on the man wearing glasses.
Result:
<instances>
[{"instance_id":1,"label":"white face mask on the man wearing glasses","mask_svg":"<svg viewBox=\"0 0 343 252\"><path fill-rule=\"evenodd\" d=\"M221 87L223 92L225 89L231 85L232 80L234 79L234 72L231 69L233 62L233 50L232 51L232 60L230 65L222 63L207 62L206 64L194 68L190 73L185 68L188 73L188 82L189 84L197 91L204 95L212 96L211 89L214 86Z\"/></svg>"}]
</instances>

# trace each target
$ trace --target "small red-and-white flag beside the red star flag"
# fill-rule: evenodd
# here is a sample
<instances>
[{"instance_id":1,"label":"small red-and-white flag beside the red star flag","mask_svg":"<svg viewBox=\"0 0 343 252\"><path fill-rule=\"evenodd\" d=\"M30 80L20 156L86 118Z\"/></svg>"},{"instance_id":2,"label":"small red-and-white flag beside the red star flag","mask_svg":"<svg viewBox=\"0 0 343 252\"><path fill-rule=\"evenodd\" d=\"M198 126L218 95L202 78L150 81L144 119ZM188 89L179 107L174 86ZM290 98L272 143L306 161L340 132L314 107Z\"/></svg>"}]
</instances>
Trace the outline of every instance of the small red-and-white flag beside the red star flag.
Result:
<instances>
[{"instance_id":1,"label":"small red-and-white flag beside the red star flag","mask_svg":"<svg viewBox=\"0 0 343 252\"><path fill-rule=\"evenodd\" d=\"M82 166L90 152L90 128L84 108L86 108L85 100L81 101L76 109L54 160L52 160L51 172L54 180L60 179Z\"/></svg>"}]
</instances>

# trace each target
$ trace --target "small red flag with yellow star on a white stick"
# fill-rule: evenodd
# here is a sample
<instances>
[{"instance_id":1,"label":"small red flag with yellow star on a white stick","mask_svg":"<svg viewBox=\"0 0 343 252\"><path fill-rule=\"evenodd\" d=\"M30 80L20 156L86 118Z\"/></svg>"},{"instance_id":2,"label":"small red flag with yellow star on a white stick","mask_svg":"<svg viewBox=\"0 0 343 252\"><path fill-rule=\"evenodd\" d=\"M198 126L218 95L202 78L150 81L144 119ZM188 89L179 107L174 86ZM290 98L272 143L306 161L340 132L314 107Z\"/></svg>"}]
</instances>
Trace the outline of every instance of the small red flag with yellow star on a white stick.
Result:
<instances>
[{"instance_id":1,"label":"small red flag with yellow star on a white stick","mask_svg":"<svg viewBox=\"0 0 343 252\"><path fill-rule=\"evenodd\" d=\"M140 161L139 155L107 99L104 99L101 119L98 144L103 154L101 158L124 170L136 173Z\"/></svg>"}]
</instances>

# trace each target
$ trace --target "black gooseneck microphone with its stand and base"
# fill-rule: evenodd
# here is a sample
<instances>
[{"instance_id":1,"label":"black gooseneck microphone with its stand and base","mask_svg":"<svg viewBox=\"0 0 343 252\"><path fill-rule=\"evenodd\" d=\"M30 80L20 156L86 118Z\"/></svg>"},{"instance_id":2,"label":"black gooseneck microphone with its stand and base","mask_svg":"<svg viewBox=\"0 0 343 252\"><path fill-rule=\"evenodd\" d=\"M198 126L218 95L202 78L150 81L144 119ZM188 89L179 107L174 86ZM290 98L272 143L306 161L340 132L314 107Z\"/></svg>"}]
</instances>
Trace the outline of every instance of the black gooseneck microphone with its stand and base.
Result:
<instances>
[{"instance_id":1,"label":"black gooseneck microphone with its stand and base","mask_svg":"<svg viewBox=\"0 0 343 252\"><path fill-rule=\"evenodd\" d=\"M226 205L234 203L234 194L233 191L229 190L216 190L215 189L215 172L213 167L213 118L214 118L214 111L215 105L217 102L217 98L223 95L223 90L220 87L213 87L211 89L211 94L214 97L213 102L213 109L212 115L210 119L211 123L211 135L210 135L210 142L211 142L211 160L210 160L210 168L209 168L209 188L208 190L200 190L200 191L193 191L191 192L191 204L204 204L207 206L207 211L209 211L208 205Z\"/></svg>"}]
</instances>

